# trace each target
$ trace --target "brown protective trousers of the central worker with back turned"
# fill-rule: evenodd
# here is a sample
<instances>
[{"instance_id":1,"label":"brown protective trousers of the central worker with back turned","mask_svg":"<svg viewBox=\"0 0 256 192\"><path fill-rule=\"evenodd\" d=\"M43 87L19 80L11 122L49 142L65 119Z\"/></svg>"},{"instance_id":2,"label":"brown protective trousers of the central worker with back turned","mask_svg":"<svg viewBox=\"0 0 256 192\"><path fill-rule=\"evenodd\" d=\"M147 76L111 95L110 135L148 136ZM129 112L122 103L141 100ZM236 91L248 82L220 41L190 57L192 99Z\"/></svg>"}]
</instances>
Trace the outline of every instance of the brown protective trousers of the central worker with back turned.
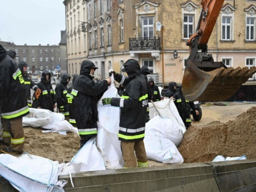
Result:
<instances>
[{"instance_id":1,"label":"brown protective trousers of the central worker with back turned","mask_svg":"<svg viewBox=\"0 0 256 192\"><path fill-rule=\"evenodd\" d=\"M124 157L124 168L147 167L147 154L143 140L135 142L121 141L122 154ZM134 154L135 150L135 154ZM137 157L137 159L136 159Z\"/></svg>"}]
</instances>

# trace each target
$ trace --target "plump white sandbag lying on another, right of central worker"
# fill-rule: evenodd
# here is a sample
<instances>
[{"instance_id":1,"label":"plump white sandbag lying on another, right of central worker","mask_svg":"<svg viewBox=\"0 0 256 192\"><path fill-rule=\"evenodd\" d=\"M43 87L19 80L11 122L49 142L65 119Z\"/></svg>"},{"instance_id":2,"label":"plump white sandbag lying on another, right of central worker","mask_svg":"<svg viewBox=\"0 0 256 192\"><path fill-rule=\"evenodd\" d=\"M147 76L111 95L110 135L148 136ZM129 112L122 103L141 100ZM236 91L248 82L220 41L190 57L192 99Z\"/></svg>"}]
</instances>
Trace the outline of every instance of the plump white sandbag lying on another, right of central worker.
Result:
<instances>
[{"instance_id":1,"label":"plump white sandbag lying on another, right of central worker","mask_svg":"<svg viewBox=\"0 0 256 192\"><path fill-rule=\"evenodd\" d=\"M170 118L161 118L158 115L147 122L146 129L154 132L156 136L171 140L176 146L183 138L182 127L177 127Z\"/></svg>"}]
</instances>

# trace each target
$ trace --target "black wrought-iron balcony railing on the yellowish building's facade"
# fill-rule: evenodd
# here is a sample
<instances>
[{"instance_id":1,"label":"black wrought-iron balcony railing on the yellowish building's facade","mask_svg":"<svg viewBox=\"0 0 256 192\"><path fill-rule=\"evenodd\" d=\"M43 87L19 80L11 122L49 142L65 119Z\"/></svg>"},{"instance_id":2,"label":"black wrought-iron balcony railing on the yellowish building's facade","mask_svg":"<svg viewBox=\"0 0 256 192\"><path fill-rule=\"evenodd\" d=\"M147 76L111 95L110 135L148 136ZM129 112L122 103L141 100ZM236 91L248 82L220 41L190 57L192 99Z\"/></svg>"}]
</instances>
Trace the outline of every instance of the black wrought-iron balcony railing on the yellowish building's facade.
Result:
<instances>
[{"instance_id":1,"label":"black wrought-iron balcony railing on the yellowish building's facade","mask_svg":"<svg viewBox=\"0 0 256 192\"><path fill-rule=\"evenodd\" d=\"M129 38L130 51L160 50L160 38Z\"/></svg>"}]
</instances>

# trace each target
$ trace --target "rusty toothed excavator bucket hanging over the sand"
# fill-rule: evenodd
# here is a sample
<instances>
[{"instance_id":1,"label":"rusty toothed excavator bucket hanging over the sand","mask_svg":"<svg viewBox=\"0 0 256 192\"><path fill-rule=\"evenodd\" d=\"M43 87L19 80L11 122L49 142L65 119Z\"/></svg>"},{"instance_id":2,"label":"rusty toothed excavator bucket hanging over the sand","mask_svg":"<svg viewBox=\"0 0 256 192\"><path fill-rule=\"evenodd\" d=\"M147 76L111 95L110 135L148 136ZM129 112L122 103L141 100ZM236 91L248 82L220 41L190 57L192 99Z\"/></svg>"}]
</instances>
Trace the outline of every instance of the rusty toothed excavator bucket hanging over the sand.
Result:
<instances>
[{"instance_id":1,"label":"rusty toothed excavator bucket hanging over the sand","mask_svg":"<svg viewBox=\"0 0 256 192\"><path fill-rule=\"evenodd\" d=\"M226 100L256 72L256 67L227 68L222 62L188 60L182 80L182 93L189 101Z\"/></svg>"}]
</instances>

